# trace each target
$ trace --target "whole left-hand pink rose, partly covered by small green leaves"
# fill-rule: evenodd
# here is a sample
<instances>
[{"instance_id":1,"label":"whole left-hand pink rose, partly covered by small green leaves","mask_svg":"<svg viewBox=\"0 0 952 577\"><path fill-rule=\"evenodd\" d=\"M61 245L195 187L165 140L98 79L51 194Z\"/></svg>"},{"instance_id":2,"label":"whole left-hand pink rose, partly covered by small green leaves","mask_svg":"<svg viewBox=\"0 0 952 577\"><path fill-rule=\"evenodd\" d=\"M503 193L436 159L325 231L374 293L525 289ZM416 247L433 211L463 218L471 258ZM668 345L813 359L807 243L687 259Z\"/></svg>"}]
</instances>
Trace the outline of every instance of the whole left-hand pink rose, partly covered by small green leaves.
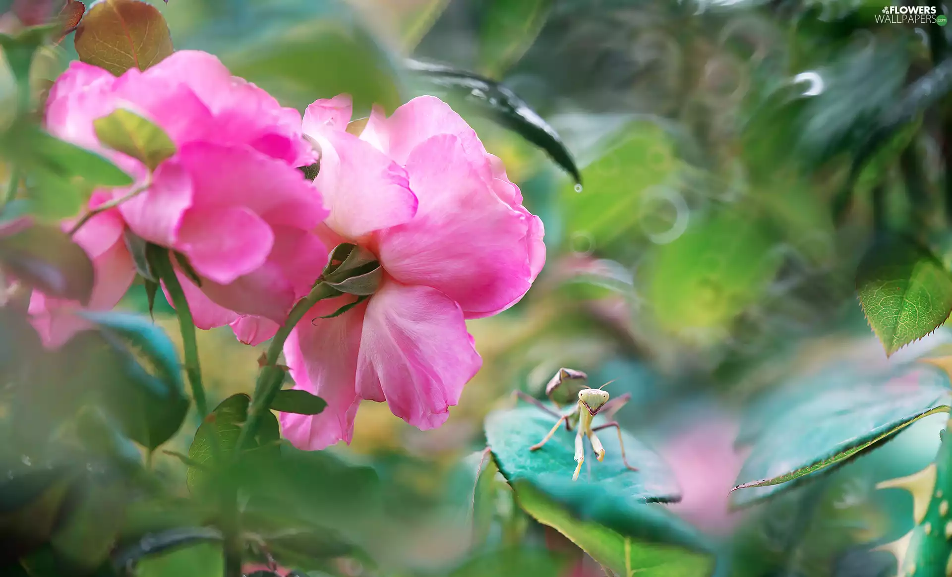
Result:
<instances>
[{"instance_id":1,"label":"whole left-hand pink rose, partly covered by small green leaves","mask_svg":"<svg viewBox=\"0 0 952 577\"><path fill-rule=\"evenodd\" d=\"M93 121L119 108L165 129L176 145L151 182L142 163L96 137ZM46 121L52 134L108 156L136 179L129 189L98 190L90 209L149 184L76 235L96 272L90 308L112 308L129 289L134 268L125 227L188 257L202 286L180 271L178 277L198 328L228 324L246 335L259 323L281 322L327 264L313 230L328 211L296 169L314 160L300 114L231 76L214 56L178 51L119 78L73 62L50 90ZM83 328L69 315L77 307L34 293L30 313L48 346Z\"/></svg>"}]
</instances>

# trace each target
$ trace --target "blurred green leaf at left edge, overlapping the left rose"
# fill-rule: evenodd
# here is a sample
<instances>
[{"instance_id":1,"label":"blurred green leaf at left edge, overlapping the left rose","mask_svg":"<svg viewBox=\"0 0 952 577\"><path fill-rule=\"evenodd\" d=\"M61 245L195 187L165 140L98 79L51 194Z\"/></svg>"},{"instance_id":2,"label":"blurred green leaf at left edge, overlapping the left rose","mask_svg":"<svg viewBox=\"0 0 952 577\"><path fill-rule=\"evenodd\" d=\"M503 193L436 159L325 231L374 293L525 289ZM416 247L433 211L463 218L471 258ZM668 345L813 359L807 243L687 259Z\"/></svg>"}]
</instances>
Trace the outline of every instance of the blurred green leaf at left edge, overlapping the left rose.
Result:
<instances>
[{"instance_id":1,"label":"blurred green leaf at left edge, overlapping the left rose","mask_svg":"<svg viewBox=\"0 0 952 577\"><path fill-rule=\"evenodd\" d=\"M89 187L126 187L132 177L95 152L59 140L32 125L17 125L0 142L0 151L30 174L50 172L64 180L81 178Z\"/></svg>"}]
</instances>

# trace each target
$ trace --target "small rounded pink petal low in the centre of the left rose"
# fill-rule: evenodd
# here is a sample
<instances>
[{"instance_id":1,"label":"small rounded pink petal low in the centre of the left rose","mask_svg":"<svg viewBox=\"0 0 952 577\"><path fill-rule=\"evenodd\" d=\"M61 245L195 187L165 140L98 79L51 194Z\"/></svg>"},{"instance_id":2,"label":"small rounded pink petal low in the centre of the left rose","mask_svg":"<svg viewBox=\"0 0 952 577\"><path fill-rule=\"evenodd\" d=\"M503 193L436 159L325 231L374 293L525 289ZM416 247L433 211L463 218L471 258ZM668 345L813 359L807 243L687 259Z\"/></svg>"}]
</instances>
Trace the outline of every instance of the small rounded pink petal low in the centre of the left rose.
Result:
<instances>
[{"instance_id":1,"label":"small rounded pink petal low in the centre of the left rose","mask_svg":"<svg viewBox=\"0 0 952 577\"><path fill-rule=\"evenodd\" d=\"M202 277L227 285L268 259L274 232L245 207L191 209L182 220L177 247Z\"/></svg>"}]
</instances>

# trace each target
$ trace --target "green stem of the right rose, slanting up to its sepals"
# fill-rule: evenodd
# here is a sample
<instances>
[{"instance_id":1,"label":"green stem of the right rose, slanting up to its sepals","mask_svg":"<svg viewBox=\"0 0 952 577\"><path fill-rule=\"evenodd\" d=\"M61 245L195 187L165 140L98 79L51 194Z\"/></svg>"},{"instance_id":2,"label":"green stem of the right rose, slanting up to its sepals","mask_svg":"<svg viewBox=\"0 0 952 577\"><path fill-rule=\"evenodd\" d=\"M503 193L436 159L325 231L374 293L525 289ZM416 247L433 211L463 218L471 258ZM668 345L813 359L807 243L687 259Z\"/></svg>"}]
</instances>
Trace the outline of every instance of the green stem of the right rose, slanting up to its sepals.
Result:
<instances>
[{"instance_id":1,"label":"green stem of the right rose, slanting up to its sepals","mask_svg":"<svg viewBox=\"0 0 952 577\"><path fill-rule=\"evenodd\" d=\"M281 385L284 382L284 369L278 368L278 357L285 347L285 341L288 340L291 329L318 301L339 294L338 290L324 283L323 279L318 279L318 282L307 296L298 301L294 308L291 308L285 324L278 328L278 332L275 333L271 345L268 347L268 352L265 353L265 366L258 373L258 381L254 386L254 397L251 401L251 407L248 409L248 420L245 422L245 426L241 428L241 434L239 434L238 442L235 444L233 453L235 457L257 434L262 418L270 409L274 396L281 390Z\"/></svg>"}]
</instances>

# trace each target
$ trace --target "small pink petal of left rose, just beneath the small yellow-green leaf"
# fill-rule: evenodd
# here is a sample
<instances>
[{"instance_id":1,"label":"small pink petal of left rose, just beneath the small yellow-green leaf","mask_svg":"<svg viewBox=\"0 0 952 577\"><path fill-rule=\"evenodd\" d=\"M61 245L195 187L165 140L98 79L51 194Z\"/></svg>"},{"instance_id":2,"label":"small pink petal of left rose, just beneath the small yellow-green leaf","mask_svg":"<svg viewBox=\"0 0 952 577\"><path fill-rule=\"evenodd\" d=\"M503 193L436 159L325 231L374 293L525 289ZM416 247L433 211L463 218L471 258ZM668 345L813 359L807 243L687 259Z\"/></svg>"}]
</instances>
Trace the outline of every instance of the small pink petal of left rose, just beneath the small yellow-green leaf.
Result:
<instances>
[{"instance_id":1,"label":"small pink petal of left rose, just beneath the small yellow-green leaf","mask_svg":"<svg viewBox=\"0 0 952 577\"><path fill-rule=\"evenodd\" d=\"M191 178L178 160L170 159L155 170L149 189L119 205L119 211L133 232L171 247L178 241L182 218L191 204Z\"/></svg>"}]
</instances>

